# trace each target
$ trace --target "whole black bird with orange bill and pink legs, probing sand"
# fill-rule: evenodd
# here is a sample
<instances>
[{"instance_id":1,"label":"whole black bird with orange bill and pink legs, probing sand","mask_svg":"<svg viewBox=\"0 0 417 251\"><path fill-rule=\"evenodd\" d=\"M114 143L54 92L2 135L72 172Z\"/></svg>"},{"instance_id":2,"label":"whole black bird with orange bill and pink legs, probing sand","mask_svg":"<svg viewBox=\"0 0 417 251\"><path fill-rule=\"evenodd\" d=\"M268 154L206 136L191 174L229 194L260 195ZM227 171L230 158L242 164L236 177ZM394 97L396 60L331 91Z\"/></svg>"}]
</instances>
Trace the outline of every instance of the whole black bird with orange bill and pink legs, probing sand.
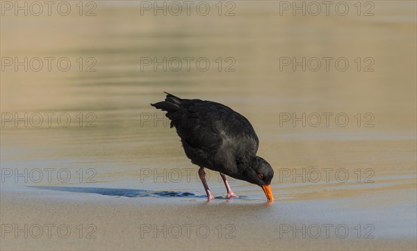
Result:
<instances>
[{"instance_id":1,"label":"whole black bird with orange bill and pink legs, probing sand","mask_svg":"<svg viewBox=\"0 0 417 251\"><path fill-rule=\"evenodd\" d=\"M200 167L198 173L208 200L214 197L208 190L204 168L220 172L228 198L238 196L231 191L226 175L261 186L267 199L274 200L270 187L274 170L256 156L258 136L243 115L216 102L180 99L165 93L165 101L151 105L167 111L171 128L177 129L186 155Z\"/></svg>"}]
</instances>

